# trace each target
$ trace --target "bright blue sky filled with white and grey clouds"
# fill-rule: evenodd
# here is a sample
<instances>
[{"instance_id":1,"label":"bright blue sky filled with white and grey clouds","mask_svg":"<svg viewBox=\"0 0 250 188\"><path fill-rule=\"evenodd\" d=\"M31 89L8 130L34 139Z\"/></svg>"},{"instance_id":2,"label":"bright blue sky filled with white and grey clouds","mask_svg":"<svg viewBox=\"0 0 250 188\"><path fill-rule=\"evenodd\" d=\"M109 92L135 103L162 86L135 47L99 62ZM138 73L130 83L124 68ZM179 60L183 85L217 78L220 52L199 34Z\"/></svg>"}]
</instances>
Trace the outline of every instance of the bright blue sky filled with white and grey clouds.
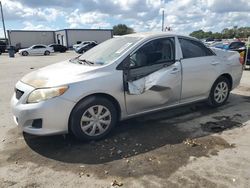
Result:
<instances>
[{"instance_id":1,"label":"bright blue sky filled with white and grey clouds","mask_svg":"<svg viewBox=\"0 0 250 188\"><path fill-rule=\"evenodd\" d=\"M136 32L221 32L250 26L250 0L0 0L7 30L110 29L122 23ZM0 24L0 37L3 37Z\"/></svg>"}]
</instances>

